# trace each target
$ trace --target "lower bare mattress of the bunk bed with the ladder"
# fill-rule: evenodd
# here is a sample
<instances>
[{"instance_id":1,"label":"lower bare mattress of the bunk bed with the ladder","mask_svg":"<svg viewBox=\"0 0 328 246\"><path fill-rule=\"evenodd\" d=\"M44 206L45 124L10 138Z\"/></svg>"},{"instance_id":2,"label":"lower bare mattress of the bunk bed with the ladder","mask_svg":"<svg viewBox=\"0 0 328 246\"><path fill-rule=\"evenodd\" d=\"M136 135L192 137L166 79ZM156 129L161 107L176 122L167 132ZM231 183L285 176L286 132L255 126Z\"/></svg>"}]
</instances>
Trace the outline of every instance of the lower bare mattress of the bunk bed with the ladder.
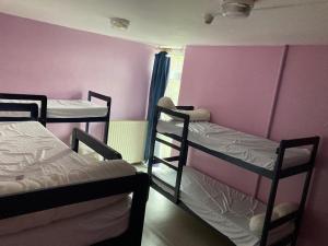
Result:
<instances>
[{"instance_id":1,"label":"lower bare mattress of the bunk bed with the ladder","mask_svg":"<svg viewBox=\"0 0 328 246\"><path fill-rule=\"evenodd\" d=\"M160 165L153 174L175 185L176 172ZM156 179L154 179L156 183ZM164 190L167 187L156 183ZM197 215L227 236L237 246L258 246L260 236L249 231L253 215L266 211L266 204L227 185L224 185L192 167L185 166L180 186L180 200ZM270 232L269 244L277 242L293 230L293 226Z\"/></svg>"}]
</instances>

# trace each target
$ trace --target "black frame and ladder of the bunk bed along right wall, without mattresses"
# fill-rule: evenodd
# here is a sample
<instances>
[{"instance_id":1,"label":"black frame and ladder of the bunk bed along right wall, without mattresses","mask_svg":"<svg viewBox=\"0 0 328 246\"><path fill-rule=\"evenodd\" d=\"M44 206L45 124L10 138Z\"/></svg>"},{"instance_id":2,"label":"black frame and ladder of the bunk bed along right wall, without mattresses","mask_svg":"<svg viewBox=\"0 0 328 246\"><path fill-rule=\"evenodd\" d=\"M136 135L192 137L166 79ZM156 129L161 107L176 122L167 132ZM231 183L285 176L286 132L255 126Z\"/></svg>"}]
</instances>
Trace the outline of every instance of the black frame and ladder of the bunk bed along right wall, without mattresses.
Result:
<instances>
[{"instance_id":1,"label":"black frame and ladder of the bunk bed along right wall, without mattresses","mask_svg":"<svg viewBox=\"0 0 328 246\"><path fill-rule=\"evenodd\" d=\"M178 106L178 109L185 109L185 110L192 110L194 106ZM183 120L183 132L181 136L176 136L172 133L161 133L157 132L156 126L157 121L160 119L161 114L169 115L176 118L180 118ZM179 207L183 209L187 210L188 212L192 213L197 218L199 218L197 214L195 214L188 207L179 200L179 192L180 192L180 183L181 183L181 177L183 177L183 168L186 165L187 162L187 155L188 155L188 147L192 147L195 149L198 149L204 153L208 153L210 155L216 156L221 160L227 161L232 164L235 164L239 167L243 167L247 171L250 171L253 173L259 174L261 176L265 176L271 180L271 188L270 188L270 194L268 197L268 202L267 202L267 211L266 211L266 216L265 216L265 223L263 223L263 230L261 234L261 239L260 239L260 246L266 246L269 232L273 229L277 229L278 226L285 224L288 222L294 221L295 223L295 229L292 233L289 235L284 236L283 238L279 239L272 246L282 246L282 245L288 245L291 243L292 246L296 245L298 232L300 232L300 226L302 222L302 216L305 208L305 202L311 185L311 178L315 165L315 159L318 150L318 144L319 144L319 137L312 137L312 138L303 138L303 139L292 139L292 140L281 140L279 148L277 149L277 161L273 171L269 171L262 167L258 167L255 165L251 165L250 163L244 162L242 160L229 156L226 154L210 150L206 147L202 147L200 144L197 144L195 142L191 142L188 140L188 128L189 128L189 116L183 113L174 112L164 107L157 106L155 109L154 114L154 119L153 119L153 129L151 133L151 148L150 148L150 157L149 157L149 165L148 165L148 173L151 177L151 186L156 189L159 192L164 195L167 199L171 201L177 203ZM162 136L166 136L168 138L172 138L173 140L180 142L180 145L178 147L175 143L167 142L164 139L161 139L157 137L157 133ZM165 145L168 145L173 148L174 150L179 152L179 155L176 156L171 156L171 157L164 157L160 159L154 155L154 148L155 148L155 142L163 143ZM307 163L303 163L296 166L288 167L288 168L282 168L282 163L283 163L283 157L286 149L290 148L297 148L297 147L312 147L312 152L311 152L311 157ZM177 161L178 164L173 165L171 162ZM176 175L176 184L173 187L168 183L162 180L160 177L155 176L152 173L152 167L154 164L164 164L168 166L169 168L173 168L177 172ZM295 212L292 212L288 215L284 215L278 220L271 221L270 218L273 212L273 207L274 207L274 201L276 201L276 196L278 191L278 185L280 179L286 178L293 175L298 175L306 173L306 178L303 184L303 189L302 189L302 196L301 196L301 201L298 209ZM169 192L164 190L160 185L157 185L155 181L159 181L166 188L171 189L174 191L174 196L172 196Z\"/></svg>"}]
</instances>

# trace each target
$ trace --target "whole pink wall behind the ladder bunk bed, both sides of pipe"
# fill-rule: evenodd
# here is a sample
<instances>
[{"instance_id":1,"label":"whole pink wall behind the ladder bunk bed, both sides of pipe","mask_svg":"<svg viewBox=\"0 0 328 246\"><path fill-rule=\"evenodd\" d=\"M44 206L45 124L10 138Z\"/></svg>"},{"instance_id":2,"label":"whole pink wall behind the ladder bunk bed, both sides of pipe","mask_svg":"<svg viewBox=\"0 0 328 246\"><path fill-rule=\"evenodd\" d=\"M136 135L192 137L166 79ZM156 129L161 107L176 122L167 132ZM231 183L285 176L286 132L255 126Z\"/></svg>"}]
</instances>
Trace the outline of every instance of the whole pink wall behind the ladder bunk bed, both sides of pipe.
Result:
<instances>
[{"instance_id":1,"label":"whole pink wall behind the ladder bunk bed, both sides of pipe","mask_svg":"<svg viewBox=\"0 0 328 246\"><path fill-rule=\"evenodd\" d=\"M283 47L187 48L180 105L207 107L212 121L265 136L278 82ZM300 245L326 245L328 231L328 46L290 47L281 81L271 138L274 140L319 134L321 147ZM190 164L248 194L257 176L191 151ZM295 200L303 177L282 183L279 201ZM268 181L259 197L266 199ZM313 226L315 225L315 226Z\"/></svg>"}]
</instances>

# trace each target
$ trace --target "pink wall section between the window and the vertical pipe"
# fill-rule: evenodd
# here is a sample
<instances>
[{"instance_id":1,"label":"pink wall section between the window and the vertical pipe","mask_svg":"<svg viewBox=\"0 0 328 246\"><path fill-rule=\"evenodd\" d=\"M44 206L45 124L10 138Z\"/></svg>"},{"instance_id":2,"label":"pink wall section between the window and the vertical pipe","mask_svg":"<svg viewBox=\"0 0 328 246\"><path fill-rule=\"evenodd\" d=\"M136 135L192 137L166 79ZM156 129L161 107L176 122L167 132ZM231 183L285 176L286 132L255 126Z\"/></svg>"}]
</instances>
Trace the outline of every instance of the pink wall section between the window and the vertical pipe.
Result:
<instances>
[{"instance_id":1,"label":"pink wall section between the window and the vertical pipe","mask_svg":"<svg viewBox=\"0 0 328 246\"><path fill-rule=\"evenodd\" d=\"M188 47L179 104L208 108L213 122L265 137L282 51L282 47ZM199 151L191 155L198 169L254 192L257 175ZM221 168L218 163L223 163Z\"/></svg>"}]
</instances>

